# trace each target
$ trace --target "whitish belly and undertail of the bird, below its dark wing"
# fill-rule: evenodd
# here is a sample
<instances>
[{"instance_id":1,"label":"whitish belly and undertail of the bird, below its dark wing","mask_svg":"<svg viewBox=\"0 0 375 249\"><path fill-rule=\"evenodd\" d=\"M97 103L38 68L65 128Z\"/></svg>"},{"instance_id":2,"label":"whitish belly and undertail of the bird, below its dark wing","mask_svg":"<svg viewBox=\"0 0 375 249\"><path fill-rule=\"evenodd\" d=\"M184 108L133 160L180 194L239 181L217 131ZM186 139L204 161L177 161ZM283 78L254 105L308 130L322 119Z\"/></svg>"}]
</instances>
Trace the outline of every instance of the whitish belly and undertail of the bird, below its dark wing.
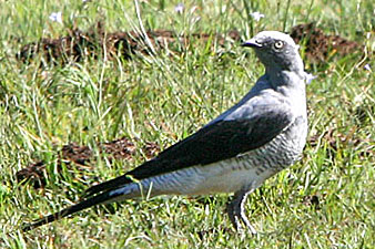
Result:
<instances>
[{"instance_id":1,"label":"whitish belly and undertail of the bird, below its dark wing","mask_svg":"<svg viewBox=\"0 0 375 249\"><path fill-rule=\"evenodd\" d=\"M206 195L234 193L244 186L259 187L274 174L273 170L259 172L246 163L226 159L205 166L193 166L173 173L142 179L124 186L128 198L158 195ZM126 194L124 196L126 198Z\"/></svg>"}]
</instances>

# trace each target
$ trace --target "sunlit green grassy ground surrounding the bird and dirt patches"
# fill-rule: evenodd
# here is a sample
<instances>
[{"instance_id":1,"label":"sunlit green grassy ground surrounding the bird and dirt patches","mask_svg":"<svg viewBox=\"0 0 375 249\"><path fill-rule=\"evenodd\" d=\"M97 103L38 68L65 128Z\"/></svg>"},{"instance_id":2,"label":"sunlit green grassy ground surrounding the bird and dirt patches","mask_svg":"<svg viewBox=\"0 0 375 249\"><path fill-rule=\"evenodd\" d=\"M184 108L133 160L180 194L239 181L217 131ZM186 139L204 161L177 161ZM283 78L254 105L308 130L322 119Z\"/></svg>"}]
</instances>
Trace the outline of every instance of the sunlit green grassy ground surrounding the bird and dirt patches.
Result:
<instances>
[{"instance_id":1,"label":"sunlit green grassy ground surrounding the bird and dirt patches","mask_svg":"<svg viewBox=\"0 0 375 249\"><path fill-rule=\"evenodd\" d=\"M85 187L145 159L142 154L113 163L99 157L91 169L54 174L55 151L63 145L85 144L98 154L97 142L129 136L138 138L139 147L153 141L165 148L240 100L263 73L252 51L231 43L209 50L194 41L180 54L164 51L130 61L88 58L41 68L41 59L30 64L14 59L22 44L57 38L74 22L81 29L100 19L110 31L139 28L134 3L123 2L1 3L0 247L374 248L374 8L371 1L351 0L189 1L182 14L174 11L178 2L139 4L145 29L237 29L245 39L260 30L287 31L316 21L325 32L366 45L373 71L364 69L358 55L307 66L318 76L307 87L310 137L315 139L300 163L250 196L246 208L257 236L234 232L224 214L226 195L131 200L22 232L23 222L77 201ZM62 11L63 24L49 20L57 11ZM253 11L265 18L253 21L247 14ZM48 165L42 190L14 177L36 158Z\"/></svg>"}]
</instances>

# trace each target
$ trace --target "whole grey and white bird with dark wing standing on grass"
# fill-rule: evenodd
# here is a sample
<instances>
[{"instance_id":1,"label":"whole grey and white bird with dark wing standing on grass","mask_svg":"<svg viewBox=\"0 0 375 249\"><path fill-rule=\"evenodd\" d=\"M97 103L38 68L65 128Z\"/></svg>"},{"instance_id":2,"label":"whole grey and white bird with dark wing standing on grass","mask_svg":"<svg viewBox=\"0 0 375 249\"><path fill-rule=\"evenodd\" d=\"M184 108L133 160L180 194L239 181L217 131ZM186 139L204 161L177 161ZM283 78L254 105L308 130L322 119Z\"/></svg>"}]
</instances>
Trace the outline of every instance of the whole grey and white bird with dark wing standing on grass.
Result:
<instances>
[{"instance_id":1,"label":"whole grey and white bird with dark wing standing on grass","mask_svg":"<svg viewBox=\"0 0 375 249\"><path fill-rule=\"evenodd\" d=\"M256 230L245 215L247 196L295 164L307 136L310 74L293 39L261 31L244 41L265 73L250 92L194 134L122 176L89 187L75 205L27 224L28 231L100 204L161 195L234 194L226 207L235 229Z\"/></svg>"}]
</instances>

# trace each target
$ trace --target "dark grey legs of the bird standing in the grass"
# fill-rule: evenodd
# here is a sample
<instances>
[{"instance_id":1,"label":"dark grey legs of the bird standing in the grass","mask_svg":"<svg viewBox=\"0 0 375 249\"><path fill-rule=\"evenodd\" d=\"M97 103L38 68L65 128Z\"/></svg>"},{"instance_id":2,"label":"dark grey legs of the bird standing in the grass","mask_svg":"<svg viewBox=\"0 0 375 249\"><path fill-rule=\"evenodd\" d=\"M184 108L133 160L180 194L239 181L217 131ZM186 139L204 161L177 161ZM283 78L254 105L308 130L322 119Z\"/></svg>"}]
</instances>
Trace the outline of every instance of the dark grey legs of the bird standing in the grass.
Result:
<instances>
[{"instance_id":1,"label":"dark grey legs of the bird standing in the grass","mask_svg":"<svg viewBox=\"0 0 375 249\"><path fill-rule=\"evenodd\" d=\"M250 229L250 231L255 235L256 230L250 224L247 217L245 216L245 203L246 197L251 194L254 188L241 189L234 194L234 199L227 204L226 211L230 216L230 219L236 230L241 229L241 221Z\"/></svg>"}]
</instances>

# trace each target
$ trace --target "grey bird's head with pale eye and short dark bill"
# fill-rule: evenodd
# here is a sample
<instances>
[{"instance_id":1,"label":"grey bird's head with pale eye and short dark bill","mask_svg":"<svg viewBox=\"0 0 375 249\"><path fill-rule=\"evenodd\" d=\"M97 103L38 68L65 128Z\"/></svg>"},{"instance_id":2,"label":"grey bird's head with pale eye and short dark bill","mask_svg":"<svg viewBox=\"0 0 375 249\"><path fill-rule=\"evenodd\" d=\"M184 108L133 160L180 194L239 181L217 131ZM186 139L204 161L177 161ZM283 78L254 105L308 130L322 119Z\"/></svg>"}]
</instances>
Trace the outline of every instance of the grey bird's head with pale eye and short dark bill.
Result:
<instances>
[{"instance_id":1,"label":"grey bird's head with pale eye and short dark bill","mask_svg":"<svg viewBox=\"0 0 375 249\"><path fill-rule=\"evenodd\" d=\"M253 48L267 70L303 71L298 45L288 34L278 31L262 31L245 41L242 46Z\"/></svg>"}]
</instances>

